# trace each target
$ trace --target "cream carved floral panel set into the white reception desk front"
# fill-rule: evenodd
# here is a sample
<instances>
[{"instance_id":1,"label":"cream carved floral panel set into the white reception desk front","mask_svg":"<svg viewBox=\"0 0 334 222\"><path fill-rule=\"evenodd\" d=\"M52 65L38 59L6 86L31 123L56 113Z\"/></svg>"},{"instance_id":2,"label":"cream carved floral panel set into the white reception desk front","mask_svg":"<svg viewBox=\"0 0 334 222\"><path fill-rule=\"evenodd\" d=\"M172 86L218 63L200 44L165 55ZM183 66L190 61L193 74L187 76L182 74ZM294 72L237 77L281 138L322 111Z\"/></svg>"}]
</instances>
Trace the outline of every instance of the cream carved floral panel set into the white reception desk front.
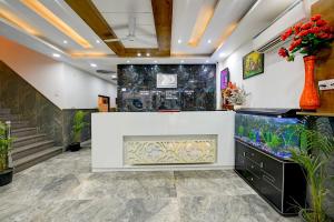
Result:
<instances>
[{"instance_id":1,"label":"cream carved floral panel set into the white reception desk front","mask_svg":"<svg viewBox=\"0 0 334 222\"><path fill-rule=\"evenodd\" d=\"M214 163L216 139L126 141L126 164Z\"/></svg>"}]
</instances>

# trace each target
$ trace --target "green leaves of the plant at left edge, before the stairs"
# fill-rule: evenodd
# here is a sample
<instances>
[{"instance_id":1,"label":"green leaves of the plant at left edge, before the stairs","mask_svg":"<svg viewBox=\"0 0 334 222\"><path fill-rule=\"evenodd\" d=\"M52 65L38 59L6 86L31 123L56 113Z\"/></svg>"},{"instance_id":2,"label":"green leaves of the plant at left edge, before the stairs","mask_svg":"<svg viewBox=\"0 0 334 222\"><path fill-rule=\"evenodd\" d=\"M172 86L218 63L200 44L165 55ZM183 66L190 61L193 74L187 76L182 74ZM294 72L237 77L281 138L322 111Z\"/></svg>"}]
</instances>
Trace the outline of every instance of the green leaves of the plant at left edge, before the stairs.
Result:
<instances>
[{"instance_id":1,"label":"green leaves of the plant at left edge, before the stairs","mask_svg":"<svg viewBox=\"0 0 334 222\"><path fill-rule=\"evenodd\" d=\"M8 153L12 139L6 137L7 125L0 122L0 171L8 169Z\"/></svg>"}]
</instances>

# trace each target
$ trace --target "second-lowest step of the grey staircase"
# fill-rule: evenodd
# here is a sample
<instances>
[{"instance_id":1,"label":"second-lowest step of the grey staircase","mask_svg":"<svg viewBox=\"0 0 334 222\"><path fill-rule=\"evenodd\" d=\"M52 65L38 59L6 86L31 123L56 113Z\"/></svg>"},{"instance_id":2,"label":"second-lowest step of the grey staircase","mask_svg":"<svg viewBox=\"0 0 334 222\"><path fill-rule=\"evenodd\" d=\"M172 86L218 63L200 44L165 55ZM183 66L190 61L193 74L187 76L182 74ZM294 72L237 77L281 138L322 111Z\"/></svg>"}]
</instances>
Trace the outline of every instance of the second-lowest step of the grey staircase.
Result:
<instances>
[{"instance_id":1,"label":"second-lowest step of the grey staircase","mask_svg":"<svg viewBox=\"0 0 334 222\"><path fill-rule=\"evenodd\" d=\"M52 147L53 147L53 141L52 140L46 140L46 141L31 143L29 145L23 145L23 147L20 147L20 148L12 149L11 158L12 158L13 161L16 161L20 158L24 158L27 155L40 152L42 150L46 150L46 149L52 148Z\"/></svg>"}]
</instances>

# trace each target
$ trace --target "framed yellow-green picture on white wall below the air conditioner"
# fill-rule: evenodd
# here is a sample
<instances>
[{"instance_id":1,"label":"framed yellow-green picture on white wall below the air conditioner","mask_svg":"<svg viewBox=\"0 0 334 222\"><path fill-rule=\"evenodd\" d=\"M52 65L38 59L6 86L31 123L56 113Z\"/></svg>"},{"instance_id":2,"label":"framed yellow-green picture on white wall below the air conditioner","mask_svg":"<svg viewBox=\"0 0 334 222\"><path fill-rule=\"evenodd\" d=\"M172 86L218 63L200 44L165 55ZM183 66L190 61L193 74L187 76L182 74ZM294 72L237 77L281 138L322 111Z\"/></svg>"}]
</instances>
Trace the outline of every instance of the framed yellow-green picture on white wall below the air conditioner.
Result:
<instances>
[{"instance_id":1,"label":"framed yellow-green picture on white wall below the air conditioner","mask_svg":"<svg viewBox=\"0 0 334 222\"><path fill-rule=\"evenodd\" d=\"M249 52L243 58L243 78L261 74L264 72L264 53Z\"/></svg>"}]
</instances>

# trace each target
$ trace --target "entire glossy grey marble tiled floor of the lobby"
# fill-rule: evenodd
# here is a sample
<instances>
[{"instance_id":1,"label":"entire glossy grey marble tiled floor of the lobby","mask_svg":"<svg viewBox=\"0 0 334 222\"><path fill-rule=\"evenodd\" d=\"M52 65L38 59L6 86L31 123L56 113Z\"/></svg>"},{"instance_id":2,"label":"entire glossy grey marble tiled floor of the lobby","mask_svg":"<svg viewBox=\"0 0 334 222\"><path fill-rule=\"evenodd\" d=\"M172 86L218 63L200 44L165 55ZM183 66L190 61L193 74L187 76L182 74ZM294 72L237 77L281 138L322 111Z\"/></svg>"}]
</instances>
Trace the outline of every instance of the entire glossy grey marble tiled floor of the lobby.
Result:
<instances>
[{"instance_id":1,"label":"entire glossy grey marble tiled floor of the lobby","mask_svg":"<svg viewBox=\"0 0 334 222\"><path fill-rule=\"evenodd\" d=\"M0 188L0 221L284 222L233 171L91 173L63 153Z\"/></svg>"}]
</instances>

